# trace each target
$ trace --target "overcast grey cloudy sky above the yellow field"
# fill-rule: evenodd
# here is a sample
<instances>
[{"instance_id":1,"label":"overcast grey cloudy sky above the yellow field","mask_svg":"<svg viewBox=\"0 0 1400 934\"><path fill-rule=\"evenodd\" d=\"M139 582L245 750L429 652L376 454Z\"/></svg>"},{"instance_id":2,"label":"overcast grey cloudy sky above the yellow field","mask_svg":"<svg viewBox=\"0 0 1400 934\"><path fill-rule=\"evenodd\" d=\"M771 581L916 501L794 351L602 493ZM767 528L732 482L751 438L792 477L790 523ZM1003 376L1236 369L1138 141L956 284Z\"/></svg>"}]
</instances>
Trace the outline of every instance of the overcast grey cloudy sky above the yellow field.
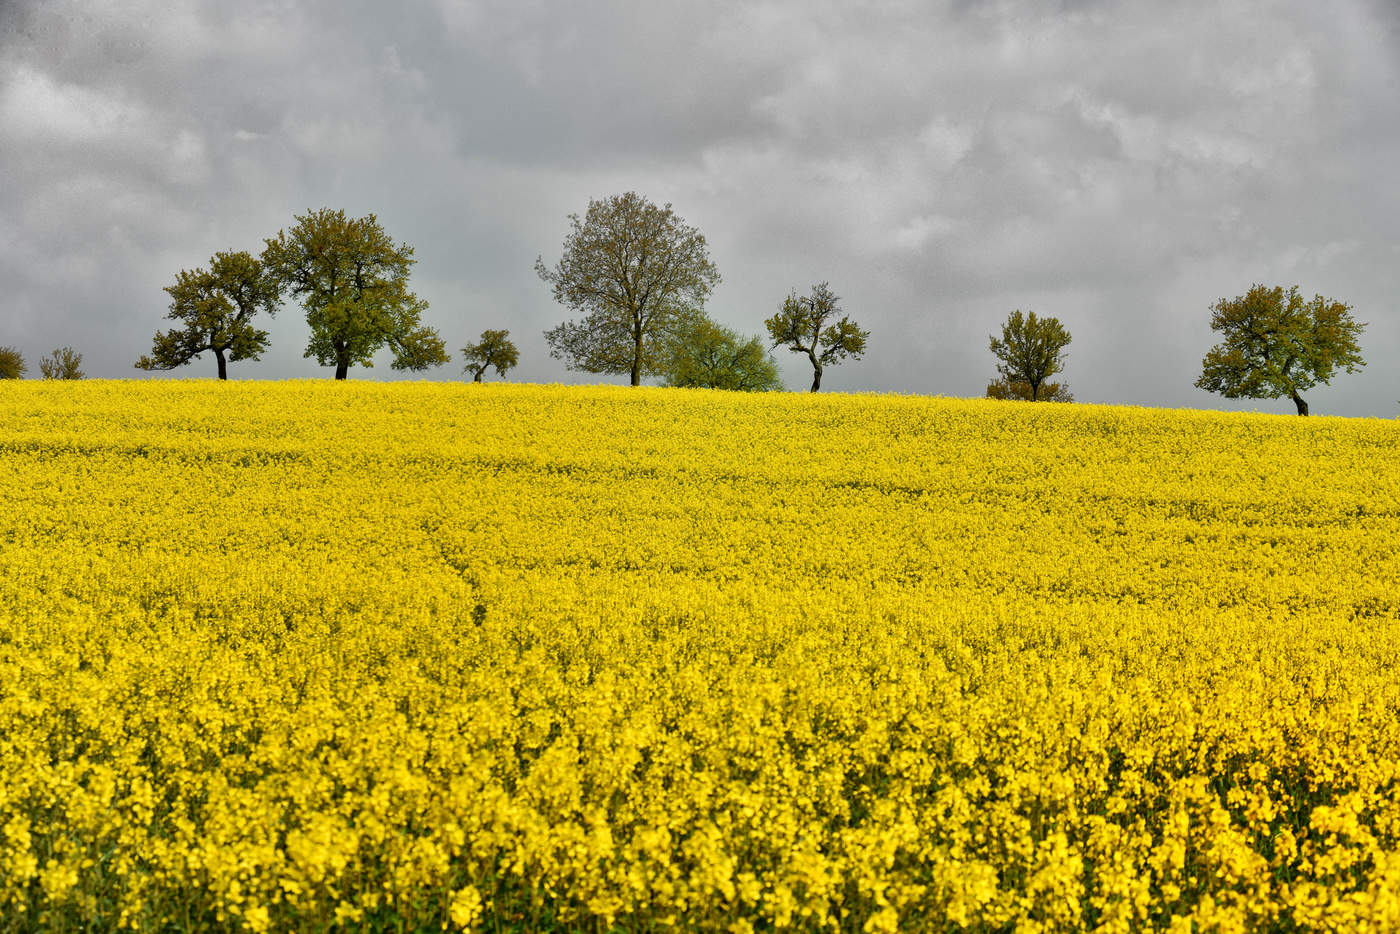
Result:
<instances>
[{"instance_id":1,"label":"overcast grey cloudy sky above the yellow field","mask_svg":"<svg viewBox=\"0 0 1400 934\"><path fill-rule=\"evenodd\" d=\"M1397 174L1394 0L0 0L0 343L32 370L169 378L132 364L175 273L336 207L414 246L451 349L508 328L512 379L599 381L549 357L532 266L637 190L708 239L724 323L830 281L872 337L823 389L981 395L1022 308L1074 335L1081 402L1292 412L1191 384L1214 301L1298 284L1368 322L1312 410L1393 417ZM330 374L300 308L265 326L234 378Z\"/></svg>"}]
</instances>

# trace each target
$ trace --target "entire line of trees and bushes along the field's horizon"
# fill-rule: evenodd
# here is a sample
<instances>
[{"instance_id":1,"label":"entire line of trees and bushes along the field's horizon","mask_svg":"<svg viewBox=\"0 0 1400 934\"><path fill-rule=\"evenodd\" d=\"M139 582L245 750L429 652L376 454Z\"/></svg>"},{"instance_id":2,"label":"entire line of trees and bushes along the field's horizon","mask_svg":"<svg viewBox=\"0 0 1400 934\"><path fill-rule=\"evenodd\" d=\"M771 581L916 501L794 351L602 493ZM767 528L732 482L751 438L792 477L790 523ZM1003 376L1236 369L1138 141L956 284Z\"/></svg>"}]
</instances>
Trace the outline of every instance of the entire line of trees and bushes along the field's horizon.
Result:
<instances>
[{"instance_id":1,"label":"entire line of trees and bushes along the field's horizon","mask_svg":"<svg viewBox=\"0 0 1400 934\"><path fill-rule=\"evenodd\" d=\"M181 270L165 287L169 330L157 330L141 370L174 370L209 351L217 375L228 364L258 360L267 332L255 325L273 316L283 298L298 301L311 330L304 356L335 367L372 365L389 349L395 370L424 371L448 363L437 329L421 322L427 302L409 290L413 248L395 242L374 214L354 218L322 209L263 241L263 251L218 252L207 267ZM545 332L550 356L570 370L624 374L631 385L657 378L672 386L763 392L781 389L773 350L787 347L812 365L811 391L822 388L827 367L858 360L869 332L844 314L829 283L799 295L790 291L763 322L766 337L743 335L713 321L704 302L720 283L704 237L671 204L657 206L636 192L589 200L570 214L559 260L543 258L535 272L574 318ZM1211 328L1222 335L1203 360L1196 385L1229 399L1292 399L1308 414L1302 393L1327 384L1338 370L1365 365L1359 337L1365 323L1351 307L1322 295L1305 300L1298 287L1253 286L1245 295L1211 307ZM1070 385L1051 381L1064 371L1070 332L1051 316L1011 312L1001 335L991 335L997 378L987 398L1072 402ZM510 330L486 329L461 350L463 372L480 382L519 363ZM81 379L83 356L59 347L41 360L46 379ZM22 354L0 347L0 378L27 372Z\"/></svg>"}]
</instances>

